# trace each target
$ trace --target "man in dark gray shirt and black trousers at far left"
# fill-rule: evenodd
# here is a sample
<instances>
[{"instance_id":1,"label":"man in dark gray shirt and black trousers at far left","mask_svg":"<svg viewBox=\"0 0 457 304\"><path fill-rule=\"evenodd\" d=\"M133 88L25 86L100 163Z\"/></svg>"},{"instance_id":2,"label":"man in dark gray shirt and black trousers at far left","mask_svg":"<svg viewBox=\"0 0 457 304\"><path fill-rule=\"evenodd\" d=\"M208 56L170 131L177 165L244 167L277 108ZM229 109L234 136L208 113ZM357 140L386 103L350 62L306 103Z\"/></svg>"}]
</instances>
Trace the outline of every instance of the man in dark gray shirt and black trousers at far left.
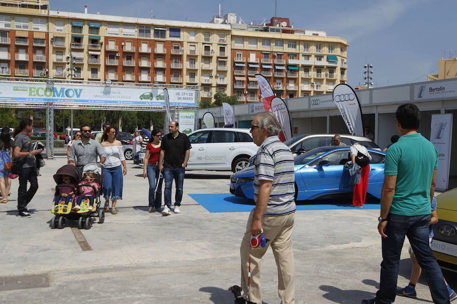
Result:
<instances>
[{"instance_id":1,"label":"man in dark gray shirt and black trousers at far left","mask_svg":"<svg viewBox=\"0 0 457 304\"><path fill-rule=\"evenodd\" d=\"M43 149L32 150L31 140L28 134L33 132L34 123L29 118L24 118L19 123L21 132L14 137L14 158L15 162L22 163L19 173L19 187L17 189L17 211L20 217L30 217L27 204L30 203L38 190L37 167L35 155L40 154ZM30 187L27 190L27 181Z\"/></svg>"}]
</instances>

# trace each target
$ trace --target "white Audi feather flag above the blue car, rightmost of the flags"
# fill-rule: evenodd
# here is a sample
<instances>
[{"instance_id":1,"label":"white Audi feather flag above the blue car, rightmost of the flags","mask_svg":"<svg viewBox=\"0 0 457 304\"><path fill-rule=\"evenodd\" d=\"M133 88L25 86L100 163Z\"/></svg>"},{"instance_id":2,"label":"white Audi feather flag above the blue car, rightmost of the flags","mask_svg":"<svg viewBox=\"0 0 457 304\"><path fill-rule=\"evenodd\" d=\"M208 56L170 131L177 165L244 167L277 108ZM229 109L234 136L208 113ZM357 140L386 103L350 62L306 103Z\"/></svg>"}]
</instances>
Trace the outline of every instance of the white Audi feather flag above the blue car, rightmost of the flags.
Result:
<instances>
[{"instance_id":1,"label":"white Audi feather flag above the blue car, rightmost of the flags","mask_svg":"<svg viewBox=\"0 0 457 304\"><path fill-rule=\"evenodd\" d=\"M364 136L362 109L354 90L346 84L339 84L333 89L333 101L340 110L349 134Z\"/></svg>"}]
</instances>

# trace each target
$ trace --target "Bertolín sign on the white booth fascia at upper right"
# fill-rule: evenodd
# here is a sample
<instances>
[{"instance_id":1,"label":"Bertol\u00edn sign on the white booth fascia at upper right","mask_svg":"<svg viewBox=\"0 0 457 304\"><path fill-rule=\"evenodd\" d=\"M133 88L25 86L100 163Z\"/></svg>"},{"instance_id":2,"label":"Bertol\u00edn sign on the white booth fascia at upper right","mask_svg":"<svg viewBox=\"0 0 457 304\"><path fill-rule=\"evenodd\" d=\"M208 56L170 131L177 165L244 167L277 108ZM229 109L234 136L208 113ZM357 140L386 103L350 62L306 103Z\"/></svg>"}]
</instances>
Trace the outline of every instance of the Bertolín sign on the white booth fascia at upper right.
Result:
<instances>
[{"instance_id":1,"label":"Bertol\u00edn sign on the white booth fascia at upper right","mask_svg":"<svg viewBox=\"0 0 457 304\"><path fill-rule=\"evenodd\" d=\"M436 98L455 98L456 89L457 81L431 81L425 85L414 86L414 100L421 101Z\"/></svg>"}]
</instances>

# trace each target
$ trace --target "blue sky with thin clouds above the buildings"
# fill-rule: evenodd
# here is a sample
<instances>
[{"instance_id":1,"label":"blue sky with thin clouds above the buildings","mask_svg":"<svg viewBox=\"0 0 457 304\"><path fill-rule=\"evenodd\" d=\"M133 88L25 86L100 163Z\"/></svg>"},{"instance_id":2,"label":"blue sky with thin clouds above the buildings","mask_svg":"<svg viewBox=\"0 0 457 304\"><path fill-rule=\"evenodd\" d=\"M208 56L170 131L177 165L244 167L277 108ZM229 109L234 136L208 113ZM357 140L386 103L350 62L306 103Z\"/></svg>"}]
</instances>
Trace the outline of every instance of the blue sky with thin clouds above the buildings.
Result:
<instances>
[{"instance_id":1,"label":"blue sky with thin clouds above the buildings","mask_svg":"<svg viewBox=\"0 0 457 304\"><path fill-rule=\"evenodd\" d=\"M222 5L222 15L236 13L245 22L270 19L275 0L98 0L87 2L88 12L104 15L209 22ZM51 10L84 11L84 2L50 0ZM294 27L327 31L347 40L348 84L363 84L363 66L373 64L375 87L426 81L438 73L438 60L457 57L457 1L303 1L277 0L277 16ZM238 19L239 20L239 19Z\"/></svg>"}]
</instances>

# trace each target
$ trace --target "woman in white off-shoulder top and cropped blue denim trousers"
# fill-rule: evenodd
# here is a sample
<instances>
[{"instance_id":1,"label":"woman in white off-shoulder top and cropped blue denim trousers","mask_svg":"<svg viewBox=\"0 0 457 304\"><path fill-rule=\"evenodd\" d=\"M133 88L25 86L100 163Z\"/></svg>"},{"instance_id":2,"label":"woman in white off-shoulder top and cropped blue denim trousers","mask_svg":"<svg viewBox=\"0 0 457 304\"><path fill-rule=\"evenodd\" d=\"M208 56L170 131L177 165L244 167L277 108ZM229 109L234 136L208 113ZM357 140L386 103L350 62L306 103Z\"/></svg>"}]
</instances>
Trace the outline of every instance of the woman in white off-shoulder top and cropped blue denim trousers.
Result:
<instances>
[{"instance_id":1,"label":"woman in white off-shoulder top and cropped blue denim trousers","mask_svg":"<svg viewBox=\"0 0 457 304\"><path fill-rule=\"evenodd\" d=\"M106 160L105 179L103 181L103 195L105 197L105 210L109 211L111 199L111 214L117 214L116 201L122 200L123 176L127 174L125 166L124 147L116 139L117 130L107 127L102 135L101 145L105 148ZM121 168L121 164L122 167Z\"/></svg>"}]
</instances>

